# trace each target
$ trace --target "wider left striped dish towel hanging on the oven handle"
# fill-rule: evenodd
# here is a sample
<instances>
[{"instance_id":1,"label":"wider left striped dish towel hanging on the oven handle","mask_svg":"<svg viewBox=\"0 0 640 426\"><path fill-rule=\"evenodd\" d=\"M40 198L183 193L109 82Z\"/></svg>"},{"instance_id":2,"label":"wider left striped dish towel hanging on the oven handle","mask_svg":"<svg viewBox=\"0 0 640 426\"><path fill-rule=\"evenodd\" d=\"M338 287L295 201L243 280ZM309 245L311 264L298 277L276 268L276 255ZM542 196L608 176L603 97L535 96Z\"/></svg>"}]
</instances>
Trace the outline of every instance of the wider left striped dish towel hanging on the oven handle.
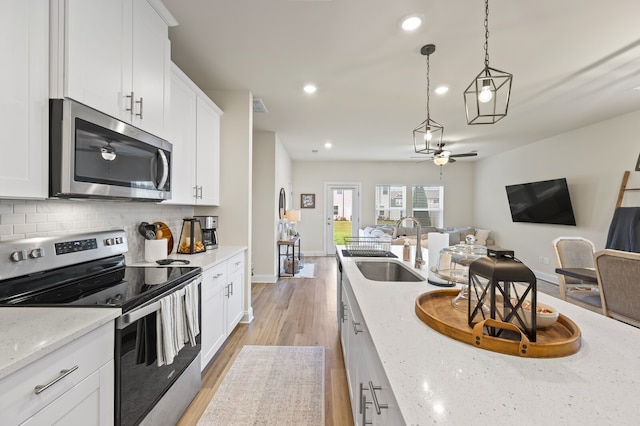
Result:
<instances>
[{"instance_id":1,"label":"wider left striped dish towel hanging on the oven handle","mask_svg":"<svg viewBox=\"0 0 640 426\"><path fill-rule=\"evenodd\" d=\"M176 291L160 299L157 317L158 367L173 363L184 347L184 291Z\"/></svg>"}]
</instances>

